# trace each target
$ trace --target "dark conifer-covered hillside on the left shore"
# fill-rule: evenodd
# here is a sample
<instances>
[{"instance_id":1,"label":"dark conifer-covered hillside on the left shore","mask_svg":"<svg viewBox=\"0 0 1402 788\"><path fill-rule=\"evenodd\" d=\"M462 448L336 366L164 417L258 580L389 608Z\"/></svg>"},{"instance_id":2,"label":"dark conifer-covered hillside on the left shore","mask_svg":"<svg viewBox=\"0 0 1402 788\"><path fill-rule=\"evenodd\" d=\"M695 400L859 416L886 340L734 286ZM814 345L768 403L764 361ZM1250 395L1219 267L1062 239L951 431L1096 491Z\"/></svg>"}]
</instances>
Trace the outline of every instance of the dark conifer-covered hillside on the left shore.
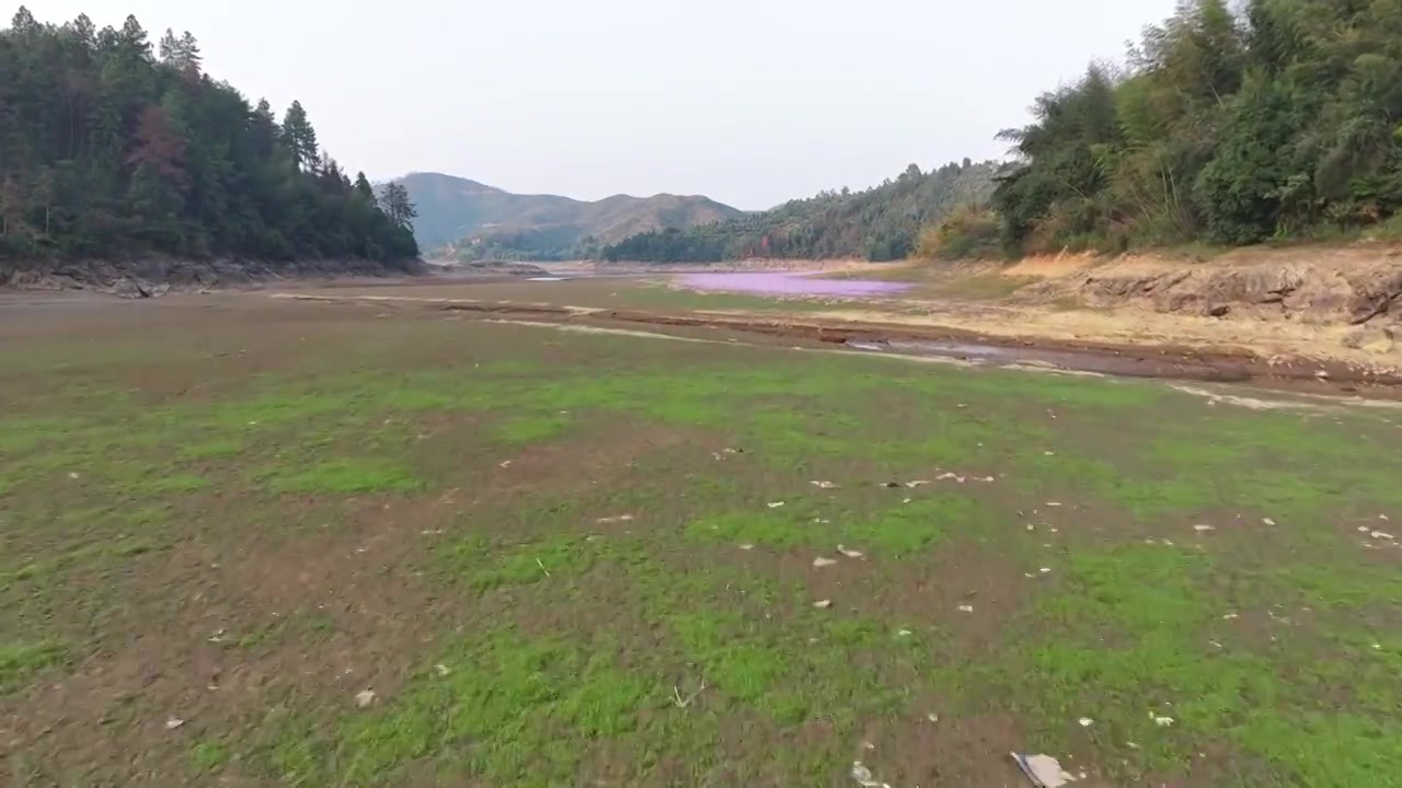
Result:
<instances>
[{"instance_id":1,"label":"dark conifer-covered hillside on the left shore","mask_svg":"<svg viewBox=\"0 0 1402 788\"><path fill-rule=\"evenodd\" d=\"M402 189L377 199L318 144L203 73L191 34L133 17L0 29L0 269L43 259L229 255L405 262ZM383 209L379 202L383 202Z\"/></svg>"}]
</instances>

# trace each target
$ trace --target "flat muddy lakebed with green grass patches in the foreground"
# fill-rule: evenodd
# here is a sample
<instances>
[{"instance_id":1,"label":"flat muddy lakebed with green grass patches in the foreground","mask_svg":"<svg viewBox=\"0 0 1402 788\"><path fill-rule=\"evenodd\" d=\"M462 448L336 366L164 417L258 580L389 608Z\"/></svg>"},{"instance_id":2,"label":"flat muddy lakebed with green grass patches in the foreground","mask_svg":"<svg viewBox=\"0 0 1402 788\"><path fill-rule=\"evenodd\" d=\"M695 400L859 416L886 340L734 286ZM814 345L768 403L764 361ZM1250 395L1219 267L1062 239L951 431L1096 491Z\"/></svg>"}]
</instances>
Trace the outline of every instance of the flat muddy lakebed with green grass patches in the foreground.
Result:
<instances>
[{"instance_id":1,"label":"flat muddy lakebed with green grass patches in the foreground","mask_svg":"<svg viewBox=\"0 0 1402 788\"><path fill-rule=\"evenodd\" d=\"M0 306L0 780L1398 784L1392 408L502 320Z\"/></svg>"}]
</instances>

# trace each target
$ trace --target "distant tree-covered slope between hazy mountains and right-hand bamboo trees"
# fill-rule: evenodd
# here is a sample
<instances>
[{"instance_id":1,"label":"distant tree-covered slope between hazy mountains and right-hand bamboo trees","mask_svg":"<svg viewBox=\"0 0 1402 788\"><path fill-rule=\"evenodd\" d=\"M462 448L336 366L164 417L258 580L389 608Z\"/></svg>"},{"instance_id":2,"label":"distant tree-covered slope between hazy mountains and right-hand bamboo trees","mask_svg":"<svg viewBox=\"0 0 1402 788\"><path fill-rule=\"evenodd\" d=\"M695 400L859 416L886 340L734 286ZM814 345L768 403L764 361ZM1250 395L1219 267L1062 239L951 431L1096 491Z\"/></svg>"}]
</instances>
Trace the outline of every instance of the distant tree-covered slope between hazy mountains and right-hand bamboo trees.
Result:
<instances>
[{"instance_id":1,"label":"distant tree-covered slope between hazy mountains and right-hand bamboo trees","mask_svg":"<svg viewBox=\"0 0 1402 788\"><path fill-rule=\"evenodd\" d=\"M911 164L894 181L862 192L822 192L773 210L690 230L649 231L603 248L604 259L714 262L765 258L900 259L923 227L993 192L997 164L951 163L930 172Z\"/></svg>"}]
</instances>

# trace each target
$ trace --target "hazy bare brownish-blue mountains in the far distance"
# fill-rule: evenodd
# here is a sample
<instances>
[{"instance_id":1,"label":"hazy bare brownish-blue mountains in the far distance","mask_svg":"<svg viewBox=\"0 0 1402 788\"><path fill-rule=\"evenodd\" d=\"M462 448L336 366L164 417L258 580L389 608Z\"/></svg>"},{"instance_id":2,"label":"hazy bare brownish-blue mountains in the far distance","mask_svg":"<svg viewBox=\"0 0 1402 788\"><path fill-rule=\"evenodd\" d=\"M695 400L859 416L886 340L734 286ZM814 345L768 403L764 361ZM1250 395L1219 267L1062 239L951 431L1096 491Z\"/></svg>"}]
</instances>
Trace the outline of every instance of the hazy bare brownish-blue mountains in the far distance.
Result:
<instances>
[{"instance_id":1,"label":"hazy bare brownish-blue mountains in the far distance","mask_svg":"<svg viewBox=\"0 0 1402 788\"><path fill-rule=\"evenodd\" d=\"M744 215L704 196L614 195L585 202L558 195L517 195L440 172L412 172L398 182L418 206L414 236L419 247L426 254L446 250L465 259L586 257L638 233L687 229Z\"/></svg>"}]
</instances>

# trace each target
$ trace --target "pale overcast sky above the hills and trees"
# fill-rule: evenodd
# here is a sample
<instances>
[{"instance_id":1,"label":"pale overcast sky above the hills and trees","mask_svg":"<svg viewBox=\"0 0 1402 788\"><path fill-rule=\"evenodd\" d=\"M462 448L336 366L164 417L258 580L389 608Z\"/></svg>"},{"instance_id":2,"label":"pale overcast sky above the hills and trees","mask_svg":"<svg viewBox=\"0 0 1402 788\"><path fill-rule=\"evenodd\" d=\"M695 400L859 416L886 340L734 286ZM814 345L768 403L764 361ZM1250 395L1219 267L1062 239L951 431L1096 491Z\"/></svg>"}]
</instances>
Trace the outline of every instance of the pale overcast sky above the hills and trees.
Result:
<instances>
[{"instance_id":1,"label":"pale overcast sky above the hills and trees","mask_svg":"<svg viewBox=\"0 0 1402 788\"><path fill-rule=\"evenodd\" d=\"M1173 0L27 0L135 14L372 179L704 193L763 209L1001 157L1033 97L1119 59Z\"/></svg>"}]
</instances>

